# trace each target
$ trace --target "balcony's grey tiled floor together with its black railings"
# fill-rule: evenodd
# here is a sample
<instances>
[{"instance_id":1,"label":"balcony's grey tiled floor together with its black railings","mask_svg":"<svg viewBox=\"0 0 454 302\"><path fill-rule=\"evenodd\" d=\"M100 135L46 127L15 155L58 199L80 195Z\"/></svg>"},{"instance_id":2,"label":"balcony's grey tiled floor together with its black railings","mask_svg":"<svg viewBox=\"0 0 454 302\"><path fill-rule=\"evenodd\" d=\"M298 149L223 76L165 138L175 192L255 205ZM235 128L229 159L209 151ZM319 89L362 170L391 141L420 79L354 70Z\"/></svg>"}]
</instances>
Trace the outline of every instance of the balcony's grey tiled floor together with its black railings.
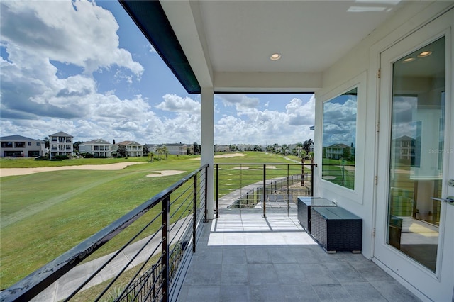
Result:
<instances>
[{"instance_id":1,"label":"balcony's grey tiled floor together with its black railings","mask_svg":"<svg viewBox=\"0 0 454 302\"><path fill-rule=\"evenodd\" d=\"M213 220L200 167L0 301L418 301L361 254L317 245L293 201L314 165L280 165L216 164Z\"/></svg>"}]
</instances>

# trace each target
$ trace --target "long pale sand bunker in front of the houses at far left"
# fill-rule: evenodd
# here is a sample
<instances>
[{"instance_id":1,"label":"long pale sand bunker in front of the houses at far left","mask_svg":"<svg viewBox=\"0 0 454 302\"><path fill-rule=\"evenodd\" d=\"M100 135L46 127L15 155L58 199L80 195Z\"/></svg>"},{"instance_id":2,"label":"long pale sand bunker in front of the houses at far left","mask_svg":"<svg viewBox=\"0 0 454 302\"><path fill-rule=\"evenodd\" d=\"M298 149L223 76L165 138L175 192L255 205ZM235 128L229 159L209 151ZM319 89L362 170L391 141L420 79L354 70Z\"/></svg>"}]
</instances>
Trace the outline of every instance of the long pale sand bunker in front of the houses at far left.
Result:
<instances>
[{"instance_id":1,"label":"long pale sand bunker in front of the houses at far left","mask_svg":"<svg viewBox=\"0 0 454 302\"><path fill-rule=\"evenodd\" d=\"M0 177L13 175L27 175L40 172L63 171L63 170L121 170L133 164L145 164L145 162L117 162L116 164L83 164L82 166L62 167L39 167L39 168L4 168L0 169Z\"/></svg>"}]
</instances>

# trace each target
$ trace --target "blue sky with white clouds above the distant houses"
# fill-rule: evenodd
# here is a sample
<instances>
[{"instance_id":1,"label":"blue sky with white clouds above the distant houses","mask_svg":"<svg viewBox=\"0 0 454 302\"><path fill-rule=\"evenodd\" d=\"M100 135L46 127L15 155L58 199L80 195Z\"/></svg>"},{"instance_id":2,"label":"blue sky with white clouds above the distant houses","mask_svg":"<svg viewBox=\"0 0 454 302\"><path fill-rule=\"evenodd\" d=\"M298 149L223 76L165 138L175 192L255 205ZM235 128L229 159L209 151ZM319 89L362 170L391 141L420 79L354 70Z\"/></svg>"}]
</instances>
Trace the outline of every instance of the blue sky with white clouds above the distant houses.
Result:
<instances>
[{"instance_id":1,"label":"blue sky with white clouds above the distant houses","mask_svg":"<svg viewBox=\"0 0 454 302\"><path fill-rule=\"evenodd\" d=\"M201 142L200 96L187 94L118 1L0 6L1 136ZM311 94L217 94L214 141L314 139L314 106Z\"/></svg>"}]
</instances>

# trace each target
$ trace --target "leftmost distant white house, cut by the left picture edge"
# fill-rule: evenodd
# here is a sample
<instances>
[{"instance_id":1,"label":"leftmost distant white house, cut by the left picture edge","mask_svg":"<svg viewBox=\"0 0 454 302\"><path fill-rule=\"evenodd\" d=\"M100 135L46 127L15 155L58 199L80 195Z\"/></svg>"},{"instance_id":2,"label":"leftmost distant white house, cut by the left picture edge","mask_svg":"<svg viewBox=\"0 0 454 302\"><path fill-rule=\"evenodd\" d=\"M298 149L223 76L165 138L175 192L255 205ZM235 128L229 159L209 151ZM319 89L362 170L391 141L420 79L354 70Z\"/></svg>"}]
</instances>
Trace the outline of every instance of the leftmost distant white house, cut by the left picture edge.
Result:
<instances>
[{"instance_id":1,"label":"leftmost distant white house, cut by the left picture edge","mask_svg":"<svg viewBox=\"0 0 454 302\"><path fill-rule=\"evenodd\" d=\"M1 157L38 157L45 155L45 142L21 135L0 138Z\"/></svg>"}]
</instances>

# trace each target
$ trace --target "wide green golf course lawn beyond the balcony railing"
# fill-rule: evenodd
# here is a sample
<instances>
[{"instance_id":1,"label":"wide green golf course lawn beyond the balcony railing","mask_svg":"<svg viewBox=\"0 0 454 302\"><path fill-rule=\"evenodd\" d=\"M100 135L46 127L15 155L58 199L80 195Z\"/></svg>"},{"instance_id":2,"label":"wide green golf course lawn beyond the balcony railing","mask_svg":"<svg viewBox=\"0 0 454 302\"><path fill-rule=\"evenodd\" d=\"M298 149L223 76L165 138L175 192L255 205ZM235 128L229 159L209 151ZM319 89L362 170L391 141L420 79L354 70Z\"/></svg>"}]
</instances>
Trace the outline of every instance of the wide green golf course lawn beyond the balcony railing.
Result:
<instances>
[{"instance_id":1,"label":"wide green golf course lawn beyond the balcony railing","mask_svg":"<svg viewBox=\"0 0 454 302\"><path fill-rule=\"evenodd\" d=\"M282 157L262 152L246 153L248 156L215 161L288 162ZM74 159L61 162L1 159L1 168L144 162L117 171L67 170L0 177L1 289L11 286L70 250L200 167L200 161L193 159L194 156L169 156L168 160L151 163L147 162L146 157L130 157L127 160ZM168 169L184 170L187 173L169 177L146 177L153 171ZM149 214L152 215L153 213ZM138 228L140 225L131 225L112 243L103 247L101 254L116 250L121 246L121 241L129 239Z\"/></svg>"}]
</instances>

